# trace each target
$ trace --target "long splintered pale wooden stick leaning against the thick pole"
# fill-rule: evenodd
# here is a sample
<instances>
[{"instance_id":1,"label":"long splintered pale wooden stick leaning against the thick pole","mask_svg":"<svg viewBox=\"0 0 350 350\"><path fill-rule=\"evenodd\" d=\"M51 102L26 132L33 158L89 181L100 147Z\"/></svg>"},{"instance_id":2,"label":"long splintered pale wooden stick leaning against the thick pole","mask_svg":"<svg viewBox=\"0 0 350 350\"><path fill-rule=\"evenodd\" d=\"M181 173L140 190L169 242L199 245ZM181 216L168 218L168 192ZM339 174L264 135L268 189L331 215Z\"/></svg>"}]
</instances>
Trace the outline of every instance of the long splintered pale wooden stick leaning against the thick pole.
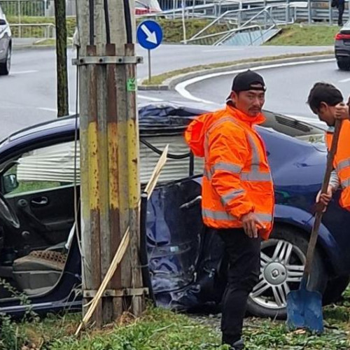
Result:
<instances>
[{"instance_id":1,"label":"long splintered pale wooden stick leaning against the thick pole","mask_svg":"<svg viewBox=\"0 0 350 350\"><path fill-rule=\"evenodd\" d=\"M151 194L160 176L160 172L162 171L162 167L164 167L165 163L167 162L168 150L169 150L169 144L165 147L162 155L160 156L157 162L157 165L155 165L155 169L153 170L151 178L147 183L145 191L148 193L148 198L151 197ZM139 205L140 204L141 204L141 200L139 201ZM87 310L85 316L83 317L83 320L80 322L75 332L75 335L78 335L80 330L83 328L83 325L85 325L87 322L90 321L90 318L92 314L94 314L94 310L96 309L97 304L99 303L99 300L101 299L102 294L104 293L104 290L106 290L106 287L109 281L111 281L111 278L113 277L113 274L116 272L116 269L120 264L120 261L123 259L125 251L127 251L127 246L129 245L129 242L130 242L130 228L128 227L125 234L123 235L123 239L120 242L120 245L118 246L116 255L114 255L111 265L109 265L109 269L106 273L106 276L104 276L104 280L102 281L101 286L99 286L99 290L97 290L96 295L94 296L92 301L89 303L90 307Z\"/></svg>"}]
</instances>

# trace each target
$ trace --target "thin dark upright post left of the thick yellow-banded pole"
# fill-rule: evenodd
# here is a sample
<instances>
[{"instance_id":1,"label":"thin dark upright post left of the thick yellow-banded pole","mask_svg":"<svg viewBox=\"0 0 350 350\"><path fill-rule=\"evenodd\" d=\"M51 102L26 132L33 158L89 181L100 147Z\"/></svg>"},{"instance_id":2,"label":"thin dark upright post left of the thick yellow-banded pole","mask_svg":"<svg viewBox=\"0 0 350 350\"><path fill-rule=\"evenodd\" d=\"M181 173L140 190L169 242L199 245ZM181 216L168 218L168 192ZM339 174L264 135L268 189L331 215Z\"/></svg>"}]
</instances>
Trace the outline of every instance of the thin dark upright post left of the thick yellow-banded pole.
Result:
<instances>
[{"instance_id":1,"label":"thin dark upright post left of the thick yellow-banded pole","mask_svg":"<svg viewBox=\"0 0 350 350\"><path fill-rule=\"evenodd\" d=\"M68 73L66 62L66 1L55 0L57 117L69 115Z\"/></svg>"}]
</instances>

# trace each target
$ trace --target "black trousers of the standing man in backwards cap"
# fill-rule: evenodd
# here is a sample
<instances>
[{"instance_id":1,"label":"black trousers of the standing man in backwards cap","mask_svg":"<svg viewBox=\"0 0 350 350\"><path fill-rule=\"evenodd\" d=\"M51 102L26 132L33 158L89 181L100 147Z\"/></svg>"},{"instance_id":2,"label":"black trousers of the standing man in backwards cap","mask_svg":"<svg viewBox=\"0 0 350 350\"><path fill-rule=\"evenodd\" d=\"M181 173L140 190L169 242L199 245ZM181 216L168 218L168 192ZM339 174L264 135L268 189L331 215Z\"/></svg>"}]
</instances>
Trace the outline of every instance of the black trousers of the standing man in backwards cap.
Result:
<instances>
[{"instance_id":1,"label":"black trousers of the standing man in backwards cap","mask_svg":"<svg viewBox=\"0 0 350 350\"><path fill-rule=\"evenodd\" d=\"M259 280L260 238L249 238L243 229L218 230L228 257L228 284L223 294L221 330L223 344L241 337L248 295Z\"/></svg>"}]
</instances>

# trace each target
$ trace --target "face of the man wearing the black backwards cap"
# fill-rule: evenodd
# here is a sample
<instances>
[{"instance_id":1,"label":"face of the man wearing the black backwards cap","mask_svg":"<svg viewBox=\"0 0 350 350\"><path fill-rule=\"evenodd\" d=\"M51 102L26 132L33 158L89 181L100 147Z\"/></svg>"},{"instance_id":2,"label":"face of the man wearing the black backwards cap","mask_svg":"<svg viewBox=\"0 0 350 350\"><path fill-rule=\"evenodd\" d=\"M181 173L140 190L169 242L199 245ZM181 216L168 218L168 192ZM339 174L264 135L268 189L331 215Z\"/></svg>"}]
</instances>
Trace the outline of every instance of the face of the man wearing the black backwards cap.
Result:
<instances>
[{"instance_id":1,"label":"face of the man wearing the black backwards cap","mask_svg":"<svg viewBox=\"0 0 350 350\"><path fill-rule=\"evenodd\" d=\"M232 102L235 107L246 113L247 116L256 117L261 112L262 106L265 104L265 91L248 90L235 92L231 94Z\"/></svg>"}]
</instances>

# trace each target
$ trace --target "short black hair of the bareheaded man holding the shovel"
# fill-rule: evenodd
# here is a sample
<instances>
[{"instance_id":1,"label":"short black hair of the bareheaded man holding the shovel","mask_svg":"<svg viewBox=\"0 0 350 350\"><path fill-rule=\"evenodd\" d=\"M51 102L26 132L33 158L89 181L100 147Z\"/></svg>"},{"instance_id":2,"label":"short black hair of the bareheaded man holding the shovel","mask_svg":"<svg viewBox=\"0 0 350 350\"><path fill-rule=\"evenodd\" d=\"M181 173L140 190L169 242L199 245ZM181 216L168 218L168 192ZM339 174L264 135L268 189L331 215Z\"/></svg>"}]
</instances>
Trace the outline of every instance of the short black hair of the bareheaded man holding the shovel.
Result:
<instances>
[{"instance_id":1,"label":"short black hair of the bareheaded man holding the shovel","mask_svg":"<svg viewBox=\"0 0 350 350\"><path fill-rule=\"evenodd\" d=\"M328 104L328 106L335 106L342 101L342 92L328 83L316 83L310 90L309 97L307 97L307 104L315 114L320 109L321 102Z\"/></svg>"}]
</instances>

